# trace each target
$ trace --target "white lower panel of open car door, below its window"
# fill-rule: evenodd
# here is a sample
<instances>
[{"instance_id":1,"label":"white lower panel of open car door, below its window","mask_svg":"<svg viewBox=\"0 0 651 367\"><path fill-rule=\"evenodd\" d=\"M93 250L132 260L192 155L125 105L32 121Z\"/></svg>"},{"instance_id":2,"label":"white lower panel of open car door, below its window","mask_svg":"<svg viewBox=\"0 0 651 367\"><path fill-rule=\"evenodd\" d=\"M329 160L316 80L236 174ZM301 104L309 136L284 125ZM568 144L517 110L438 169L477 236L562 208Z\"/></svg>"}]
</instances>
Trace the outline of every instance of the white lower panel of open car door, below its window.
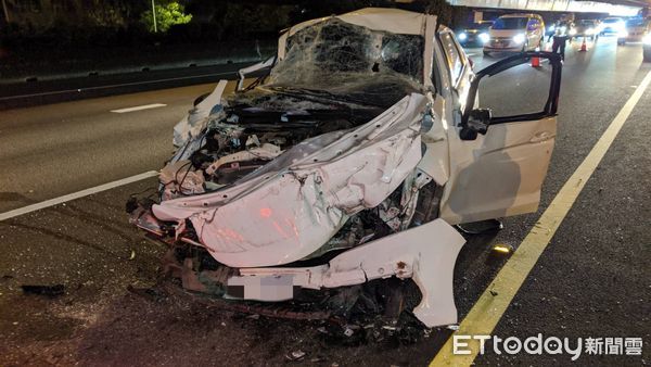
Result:
<instances>
[{"instance_id":1,"label":"white lower panel of open car door, below its window","mask_svg":"<svg viewBox=\"0 0 651 367\"><path fill-rule=\"evenodd\" d=\"M490 126L476 140L450 134L441 217L460 224L535 212L556 130L556 117L548 117Z\"/></svg>"}]
</instances>

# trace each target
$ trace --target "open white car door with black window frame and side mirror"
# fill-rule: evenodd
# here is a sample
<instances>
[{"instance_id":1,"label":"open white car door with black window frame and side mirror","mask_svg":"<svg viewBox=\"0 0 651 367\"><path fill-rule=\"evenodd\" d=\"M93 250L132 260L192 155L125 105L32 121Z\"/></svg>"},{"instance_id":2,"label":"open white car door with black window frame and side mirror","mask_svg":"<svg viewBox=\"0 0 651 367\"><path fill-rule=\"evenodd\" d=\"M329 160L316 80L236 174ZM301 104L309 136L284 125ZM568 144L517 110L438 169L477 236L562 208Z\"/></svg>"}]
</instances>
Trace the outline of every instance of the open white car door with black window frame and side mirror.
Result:
<instances>
[{"instance_id":1,"label":"open white car door with black window frame and side mirror","mask_svg":"<svg viewBox=\"0 0 651 367\"><path fill-rule=\"evenodd\" d=\"M549 64L534 68L532 56ZM461 122L448 134L442 218L460 224L537 210L554 144L561 68L558 54L523 52L476 74Z\"/></svg>"}]
</instances>

